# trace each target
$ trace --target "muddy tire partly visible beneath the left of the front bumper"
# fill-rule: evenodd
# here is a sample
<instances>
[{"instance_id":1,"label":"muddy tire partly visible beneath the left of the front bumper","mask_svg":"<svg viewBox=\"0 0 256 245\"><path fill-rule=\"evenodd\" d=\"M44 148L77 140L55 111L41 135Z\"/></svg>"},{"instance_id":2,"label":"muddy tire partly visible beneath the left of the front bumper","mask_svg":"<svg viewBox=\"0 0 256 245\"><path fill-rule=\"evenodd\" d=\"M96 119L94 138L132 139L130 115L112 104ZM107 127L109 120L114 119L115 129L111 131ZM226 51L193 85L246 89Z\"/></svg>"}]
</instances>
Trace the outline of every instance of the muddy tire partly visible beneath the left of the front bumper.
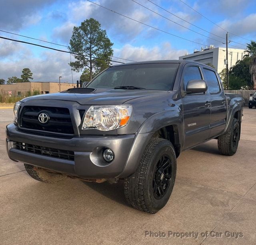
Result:
<instances>
[{"instance_id":1,"label":"muddy tire partly visible beneath the left of the front bumper","mask_svg":"<svg viewBox=\"0 0 256 245\"><path fill-rule=\"evenodd\" d=\"M64 180L67 176L57 173L48 172L42 168L32 166L30 164L24 164L27 173L35 180L45 183L56 183L60 180Z\"/></svg>"}]
</instances>

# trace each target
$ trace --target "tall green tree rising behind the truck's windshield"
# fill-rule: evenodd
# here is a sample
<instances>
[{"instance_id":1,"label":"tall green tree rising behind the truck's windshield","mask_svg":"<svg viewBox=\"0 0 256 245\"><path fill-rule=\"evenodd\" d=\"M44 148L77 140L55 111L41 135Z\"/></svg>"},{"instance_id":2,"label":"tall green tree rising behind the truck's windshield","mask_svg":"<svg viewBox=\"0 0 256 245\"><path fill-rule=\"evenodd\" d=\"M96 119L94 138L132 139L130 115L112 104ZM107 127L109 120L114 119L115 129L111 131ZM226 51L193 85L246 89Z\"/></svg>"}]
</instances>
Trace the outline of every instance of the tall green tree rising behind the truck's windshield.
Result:
<instances>
[{"instance_id":1,"label":"tall green tree rising behind the truck's windshield","mask_svg":"<svg viewBox=\"0 0 256 245\"><path fill-rule=\"evenodd\" d=\"M74 55L76 61L70 62L70 66L75 71L87 69L90 74L89 81L92 80L93 73L98 73L110 65L110 61L93 57L110 59L113 55L113 43L109 40L106 30L102 30L100 27L97 20L90 18L83 21L81 26L74 27L70 39L70 52L80 54Z\"/></svg>"}]
</instances>

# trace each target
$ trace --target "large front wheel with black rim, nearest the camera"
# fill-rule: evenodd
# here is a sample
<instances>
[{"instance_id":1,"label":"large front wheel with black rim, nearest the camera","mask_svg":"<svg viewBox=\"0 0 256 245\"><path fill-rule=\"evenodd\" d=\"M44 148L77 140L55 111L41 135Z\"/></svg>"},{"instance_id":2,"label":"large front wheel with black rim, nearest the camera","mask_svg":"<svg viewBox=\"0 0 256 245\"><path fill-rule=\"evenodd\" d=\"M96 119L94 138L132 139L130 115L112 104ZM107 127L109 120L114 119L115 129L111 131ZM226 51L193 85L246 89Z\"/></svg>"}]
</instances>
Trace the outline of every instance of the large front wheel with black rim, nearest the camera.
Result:
<instances>
[{"instance_id":1,"label":"large front wheel with black rim, nearest the camera","mask_svg":"<svg viewBox=\"0 0 256 245\"><path fill-rule=\"evenodd\" d=\"M170 198L176 168L172 143L162 138L152 138L136 172L124 180L126 201L136 209L156 213Z\"/></svg>"}]
</instances>

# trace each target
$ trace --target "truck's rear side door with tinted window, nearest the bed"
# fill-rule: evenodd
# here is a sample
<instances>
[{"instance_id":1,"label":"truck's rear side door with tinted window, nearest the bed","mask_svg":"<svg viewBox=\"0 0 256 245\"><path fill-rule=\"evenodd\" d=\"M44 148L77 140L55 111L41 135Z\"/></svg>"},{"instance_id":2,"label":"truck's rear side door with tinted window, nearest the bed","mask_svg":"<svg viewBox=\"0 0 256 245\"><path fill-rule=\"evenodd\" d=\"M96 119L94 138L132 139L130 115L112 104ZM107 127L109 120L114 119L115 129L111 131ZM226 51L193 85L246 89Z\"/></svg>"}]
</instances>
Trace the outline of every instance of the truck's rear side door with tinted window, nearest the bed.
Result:
<instances>
[{"instance_id":1,"label":"truck's rear side door with tinted window, nearest the bed","mask_svg":"<svg viewBox=\"0 0 256 245\"><path fill-rule=\"evenodd\" d=\"M226 126L226 96L221 89L220 79L216 71L203 68L204 80L206 80L211 100L210 137L213 138L221 134Z\"/></svg>"}]
</instances>

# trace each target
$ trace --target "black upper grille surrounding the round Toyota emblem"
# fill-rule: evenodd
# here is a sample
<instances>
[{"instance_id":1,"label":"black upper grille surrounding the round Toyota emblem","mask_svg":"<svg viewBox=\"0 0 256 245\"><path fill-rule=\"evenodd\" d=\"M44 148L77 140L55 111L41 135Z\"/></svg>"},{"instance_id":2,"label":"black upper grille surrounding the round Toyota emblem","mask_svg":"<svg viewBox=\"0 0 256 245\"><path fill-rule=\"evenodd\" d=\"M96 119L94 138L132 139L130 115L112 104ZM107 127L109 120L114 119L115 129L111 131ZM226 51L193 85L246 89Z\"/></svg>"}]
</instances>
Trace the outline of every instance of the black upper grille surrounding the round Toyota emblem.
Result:
<instances>
[{"instance_id":1,"label":"black upper grille surrounding the round Toyota emblem","mask_svg":"<svg viewBox=\"0 0 256 245\"><path fill-rule=\"evenodd\" d=\"M50 118L45 124L38 121L41 113ZM20 113L20 128L74 134L69 110L61 107L24 106Z\"/></svg>"}]
</instances>

